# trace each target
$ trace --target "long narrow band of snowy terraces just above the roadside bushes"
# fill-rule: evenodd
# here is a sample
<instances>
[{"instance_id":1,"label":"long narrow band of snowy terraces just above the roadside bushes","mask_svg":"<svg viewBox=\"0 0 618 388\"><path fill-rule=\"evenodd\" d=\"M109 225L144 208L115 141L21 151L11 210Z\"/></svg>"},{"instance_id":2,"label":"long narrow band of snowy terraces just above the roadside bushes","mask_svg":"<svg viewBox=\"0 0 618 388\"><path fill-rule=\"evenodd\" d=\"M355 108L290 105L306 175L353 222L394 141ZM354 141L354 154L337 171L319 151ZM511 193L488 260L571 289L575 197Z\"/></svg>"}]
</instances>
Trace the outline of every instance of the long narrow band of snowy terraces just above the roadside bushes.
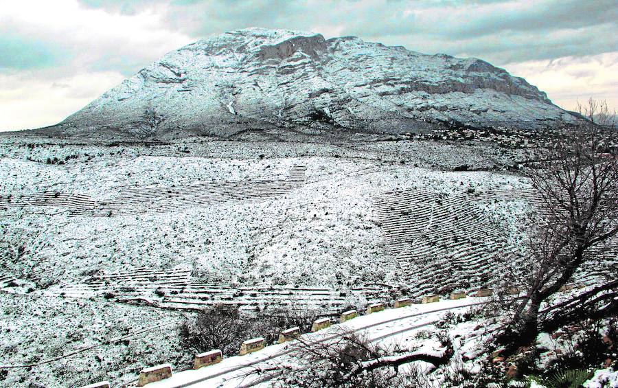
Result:
<instances>
[{"instance_id":1,"label":"long narrow band of snowy terraces just above the roadside bushes","mask_svg":"<svg viewBox=\"0 0 618 388\"><path fill-rule=\"evenodd\" d=\"M388 295L388 287L359 287L347 292L329 288L286 287L272 284L206 283L194 279L189 269L153 270L102 273L83 283L66 284L49 290L63 297L113 297L122 303L142 303L172 309L201 309L214 305L239 306L241 310L303 308L337 312L356 304L374 303Z\"/></svg>"}]
</instances>

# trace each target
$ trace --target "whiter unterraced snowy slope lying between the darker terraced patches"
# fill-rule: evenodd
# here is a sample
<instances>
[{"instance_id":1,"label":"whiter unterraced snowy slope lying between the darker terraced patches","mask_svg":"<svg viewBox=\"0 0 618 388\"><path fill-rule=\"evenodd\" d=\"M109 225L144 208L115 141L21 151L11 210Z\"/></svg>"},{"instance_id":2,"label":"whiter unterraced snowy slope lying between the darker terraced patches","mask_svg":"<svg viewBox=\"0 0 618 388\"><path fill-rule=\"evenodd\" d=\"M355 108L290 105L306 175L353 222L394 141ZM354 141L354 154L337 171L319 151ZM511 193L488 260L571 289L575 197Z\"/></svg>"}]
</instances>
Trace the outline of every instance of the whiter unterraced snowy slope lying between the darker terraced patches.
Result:
<instances>
[{"instance_id":1,"label":"whiter unterraced snowy slope lying between the darker terraced patches","mask_svg":"<svg viewBox=\"0 0 618 388\"><path fill-rule=\"evenodd\" d=\"M253 155L258 152L256 150ZM93 152L93 155L100 153ZM383 167L371 161L332 157L263 161L161 156L115 160L104 157L65 166L3 160L10 163L10 168L0 170L3 174L1 194L17 198L36 192L58 191L80 193L102 202L112 201L127 187L146 190L160 187L158 182L165 182L165 187L188 187L211 181L286 179L295 164L308 168L305 187L271 201L172 207L172 211L177 211L139 216L88 218L71 217L66 213L28 216L32 217L29 222L35 222L43 233L51 235L49 240L58 251L68 253L66 258L58 258L53 266L61 268L67 260L72 262L73 268L58 277L60 282L70 283L79 279L80 273L98 268L98 263L90 262L94 257L106 262L106 273L130 273L136 267L174 269L225 284L264 282L325 287L341 282L348 286L362 286L368 282L392 284L398 277L393 268L396 263L392 259L376 260L388 255L382 244L382 231L371 220L376 218L372 209L376 195L408 188L455 194L461 190L463 181L473 181L474 185L508 183L521 186L521 183L514 183L518 179L507 175L434 172L388 165L385 166L388 170L380 171ZM19 173L25 179L15 179L9 172ZM53 228L46 225L49 217L54 218ZM183 242L180 246L179 241ZM151 255L152 252L157 255ZM108 262L112 255L114 260ZM252 265L247 266L251 255ZM57 287L49 292L54 290L68 292Z\"/></svg>"}]
</instances>

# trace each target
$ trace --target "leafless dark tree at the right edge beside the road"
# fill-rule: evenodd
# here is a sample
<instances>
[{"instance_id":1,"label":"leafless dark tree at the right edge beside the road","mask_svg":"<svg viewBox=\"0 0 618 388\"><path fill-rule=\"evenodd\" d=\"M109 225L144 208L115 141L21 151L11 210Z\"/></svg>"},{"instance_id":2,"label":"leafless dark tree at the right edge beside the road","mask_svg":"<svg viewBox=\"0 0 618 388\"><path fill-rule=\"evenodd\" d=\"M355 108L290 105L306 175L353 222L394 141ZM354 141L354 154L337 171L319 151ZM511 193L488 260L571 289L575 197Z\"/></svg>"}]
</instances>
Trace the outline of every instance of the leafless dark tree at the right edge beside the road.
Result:
<instances>
[{"instance_id":1,"label":"leafless dark tree at the right edge beside the road","mask_svg":"<svg viewBox=\"0 0 618 388\"><path fill-rule=\"evenodd\" d=\"M551 144L540 150L541 161L527 171L542 207L528 231L527 257L518 263L523 297L511 304L510 321L501 336L502 341L513 346L534 341L547 313L560 315L556 309L541 310L542 304L572 282L582 266L602 264L602 251L608 244L615 244L616 131L608 124L610 115L605 102L589 100L580 111L588 119L558 130ZM616 286L616 282L606 282L593 295L580 300L580 306ZM615 302L606 307L616 308Z\"/></svg>"}]
</instances>

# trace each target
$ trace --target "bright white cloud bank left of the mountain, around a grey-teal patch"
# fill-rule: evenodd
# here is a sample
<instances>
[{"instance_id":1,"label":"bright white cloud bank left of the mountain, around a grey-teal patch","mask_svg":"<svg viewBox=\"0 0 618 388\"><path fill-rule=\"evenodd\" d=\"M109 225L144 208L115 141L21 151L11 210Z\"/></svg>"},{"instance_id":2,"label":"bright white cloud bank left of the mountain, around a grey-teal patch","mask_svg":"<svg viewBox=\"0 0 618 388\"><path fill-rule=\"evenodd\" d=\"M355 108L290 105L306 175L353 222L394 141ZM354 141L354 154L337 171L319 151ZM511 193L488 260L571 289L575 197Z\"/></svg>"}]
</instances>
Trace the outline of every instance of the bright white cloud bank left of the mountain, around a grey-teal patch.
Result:
<instances>
[{"instance_id":1,"label":"bright white cloud bank left of the mountain, around a grey-teal patch","mask_svg":"<svg viewBox=\"0 0 618 388\"><path fill-rule=\"evenodd\" d=\"M127 73L194 41L166 26L166 7L154 4L127 15L73 0L1 3L0 34L60 45L67 58L47 69L0 72L0 130L56 124Z\"/></svg>"}]
</instances>

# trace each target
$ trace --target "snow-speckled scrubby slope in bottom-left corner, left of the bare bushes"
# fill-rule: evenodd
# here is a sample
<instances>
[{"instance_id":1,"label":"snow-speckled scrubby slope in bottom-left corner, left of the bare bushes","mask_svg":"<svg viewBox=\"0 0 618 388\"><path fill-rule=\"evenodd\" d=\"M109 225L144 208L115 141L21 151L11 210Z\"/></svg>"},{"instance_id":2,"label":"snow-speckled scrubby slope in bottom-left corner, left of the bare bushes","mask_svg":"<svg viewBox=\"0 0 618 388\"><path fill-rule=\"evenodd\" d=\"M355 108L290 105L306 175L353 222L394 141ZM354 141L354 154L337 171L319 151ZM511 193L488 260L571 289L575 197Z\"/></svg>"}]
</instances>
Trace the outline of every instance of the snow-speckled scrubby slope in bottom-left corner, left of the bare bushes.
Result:
<instances>
[{"instance_id":1,"label":"snow-speckled scrubby slope in bottom-left corner, left of the bare bushes","mask_svg":"<svg viewBox=\"0 0 618 388\"><path fill-rule=\"evenodd\" d=\"M2 387L117 382L143 365L190 359L174 330L182 316L169 310L3 293L0 313L1 365L15 366L3 369Z\"/></svg>"}]
</instances>

